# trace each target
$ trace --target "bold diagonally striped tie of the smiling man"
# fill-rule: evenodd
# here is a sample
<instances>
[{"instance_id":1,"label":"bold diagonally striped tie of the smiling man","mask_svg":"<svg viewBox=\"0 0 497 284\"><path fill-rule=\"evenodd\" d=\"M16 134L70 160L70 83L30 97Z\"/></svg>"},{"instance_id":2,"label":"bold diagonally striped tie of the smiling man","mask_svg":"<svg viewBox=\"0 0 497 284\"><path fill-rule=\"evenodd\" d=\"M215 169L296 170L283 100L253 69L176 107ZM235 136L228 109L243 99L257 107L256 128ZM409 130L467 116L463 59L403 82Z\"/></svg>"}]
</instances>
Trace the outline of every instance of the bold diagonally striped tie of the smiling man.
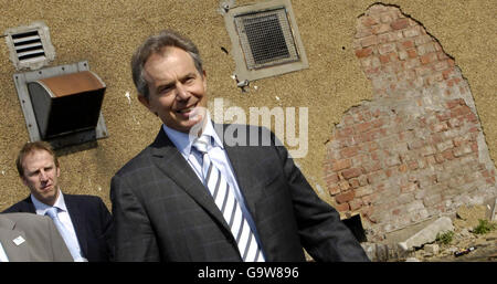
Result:
<instances>
[{"instance_id":1,"label":"bold diagonally striped tie of the smiling man","mask_svg":"<svg viewBox=\"0 0 497 284\"><path fill-rule=\"evenodd\" d=\"M202 135L193 143L193 147L203 156L202 176L204 185L229 224L243 261L264 262L264 256L248 222L243 215L242 208L234 196L234 190L209 158L209 145L210 137L207 135Z\"/></svg>"}]
</instances>

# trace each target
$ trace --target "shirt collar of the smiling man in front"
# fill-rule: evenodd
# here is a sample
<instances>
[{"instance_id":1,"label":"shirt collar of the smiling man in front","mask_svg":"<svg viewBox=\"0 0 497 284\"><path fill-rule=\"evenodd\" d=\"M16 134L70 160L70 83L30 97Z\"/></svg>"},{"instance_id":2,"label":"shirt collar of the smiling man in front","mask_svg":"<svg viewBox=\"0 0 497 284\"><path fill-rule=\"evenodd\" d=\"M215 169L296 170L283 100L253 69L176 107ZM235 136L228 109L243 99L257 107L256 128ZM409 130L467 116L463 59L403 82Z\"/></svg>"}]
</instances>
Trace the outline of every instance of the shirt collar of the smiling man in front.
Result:
<instances>
[{"instance_id":1,"label":"shirt collar of the smiling man in front","mask_svg":"<svg viewBox=\"0 0 497 284\"><path fill-rule=\"evenodd\" d=\"M207 124L205 128L203 129L202 135L208 135L212 138L214 138L214 145L212 147L221 147L224 148L223 144L221 143L221 139L218 136L218 133L214 130L214 126L212 125L211 117L209 113L207 114ZM176 129L172 129L168 127L167 125L162 125L163 130L166 132L169 139L171 139L172 144L175 144L176 148L184 156L190 156L191 147L197 137L190 136L187 133L181 133Z\"/></svg>"}]
</instances>

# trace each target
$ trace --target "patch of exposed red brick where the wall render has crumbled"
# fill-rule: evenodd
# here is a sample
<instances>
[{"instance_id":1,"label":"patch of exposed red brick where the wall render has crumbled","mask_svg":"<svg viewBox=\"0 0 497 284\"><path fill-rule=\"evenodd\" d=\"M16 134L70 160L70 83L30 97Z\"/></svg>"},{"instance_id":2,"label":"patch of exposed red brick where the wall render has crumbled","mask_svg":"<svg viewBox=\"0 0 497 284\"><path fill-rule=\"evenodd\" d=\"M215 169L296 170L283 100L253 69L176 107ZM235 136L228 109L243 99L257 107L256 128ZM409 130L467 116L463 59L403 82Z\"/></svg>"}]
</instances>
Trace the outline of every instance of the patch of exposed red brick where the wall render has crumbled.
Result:
<instances>
[{"instance_id":1,"label":"patch of exposed red brick where the wall render has crumbled","mask_svg":"<svg viewBox=\"0 0 497 284\"><path fill-rule=\"evenodd\" d=\"M381 241L496 197L468 83L436 39L398 7L374 4L358 18L353 49L373 98L345 113L327 144L337 210L360 213L368 240Z\"/></svg>"}]
</instances>

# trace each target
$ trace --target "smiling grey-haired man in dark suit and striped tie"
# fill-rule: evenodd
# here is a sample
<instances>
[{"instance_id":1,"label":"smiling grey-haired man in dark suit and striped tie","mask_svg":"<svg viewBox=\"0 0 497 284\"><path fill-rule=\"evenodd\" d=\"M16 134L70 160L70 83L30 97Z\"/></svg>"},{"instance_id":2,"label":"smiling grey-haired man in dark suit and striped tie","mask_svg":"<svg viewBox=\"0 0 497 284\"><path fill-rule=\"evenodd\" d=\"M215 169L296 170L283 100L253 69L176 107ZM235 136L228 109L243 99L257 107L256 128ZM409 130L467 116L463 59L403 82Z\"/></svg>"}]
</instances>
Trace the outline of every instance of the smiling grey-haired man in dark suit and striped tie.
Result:
<instances>
[{"instance_id":1,"label":"smiling grey-haired man in dark suit and striped tie","mask_svg":"<svg viewBox=\"0 0 497 284\"><path fill-rule=\"evenodd\" d=\"M303 248L317 261L369 261L271 132L210 120L191 41L162 31L131 67L163 125L112 179L117 261L305 261Z\"/></svg>"}]
</instances>

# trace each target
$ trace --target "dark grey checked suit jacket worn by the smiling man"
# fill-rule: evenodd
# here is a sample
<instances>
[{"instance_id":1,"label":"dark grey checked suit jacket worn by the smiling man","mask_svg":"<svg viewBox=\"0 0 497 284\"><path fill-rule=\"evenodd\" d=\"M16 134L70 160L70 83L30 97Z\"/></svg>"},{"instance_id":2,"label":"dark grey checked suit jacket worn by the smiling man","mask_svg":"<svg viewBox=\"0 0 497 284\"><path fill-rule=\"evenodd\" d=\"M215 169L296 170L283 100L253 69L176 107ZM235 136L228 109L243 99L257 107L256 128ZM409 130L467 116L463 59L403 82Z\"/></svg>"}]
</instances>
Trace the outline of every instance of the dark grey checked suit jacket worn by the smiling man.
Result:
<instances>
[{"instance_id":1,"label":"dark grey checked suit jacket worn by the smiling man","mask_svg":"<svg viewBox=\"0 0 497 284\"><path fill-rule=\"evenodd\" d=\"M273 141L230 147L224 140L266 261L305 261L303 246L319 261L368 261L337 211L317 197L286 149L274 146L273 134L239 127L247 145L248 128ZM117 261L241 261L222 213L162 128L113 177L110 198Z\"/></svg>"}]
</instances>

